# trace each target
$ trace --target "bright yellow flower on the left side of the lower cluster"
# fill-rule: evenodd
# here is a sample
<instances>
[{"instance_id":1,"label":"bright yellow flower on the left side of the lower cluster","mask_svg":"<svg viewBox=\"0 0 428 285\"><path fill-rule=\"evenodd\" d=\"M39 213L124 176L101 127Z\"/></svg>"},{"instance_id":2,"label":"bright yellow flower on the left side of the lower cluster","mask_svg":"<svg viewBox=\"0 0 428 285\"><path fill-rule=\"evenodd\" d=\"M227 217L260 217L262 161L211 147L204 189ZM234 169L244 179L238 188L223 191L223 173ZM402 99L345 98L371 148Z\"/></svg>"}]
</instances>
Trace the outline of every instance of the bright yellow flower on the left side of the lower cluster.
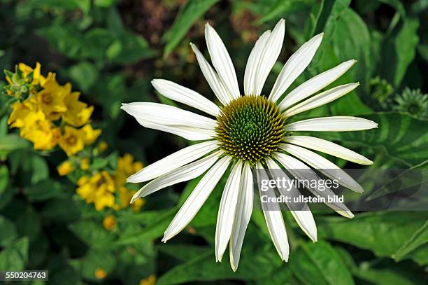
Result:
<instances>
[{"instance_id":1,"label":"bright yellow flower on the left side of the lower cluster","mask_svg":"<svg viewBox=\"0 0 428 285\"><path fill-rule=\"evenodd\" d=\"M78 195L88 204L94 203L97 211L101 211L104 207L115 207L115 196L113 195L115 185L108 172L99 172L94 174L90 179L81 177L78 185Z\"/></svg>"}]
</instances>

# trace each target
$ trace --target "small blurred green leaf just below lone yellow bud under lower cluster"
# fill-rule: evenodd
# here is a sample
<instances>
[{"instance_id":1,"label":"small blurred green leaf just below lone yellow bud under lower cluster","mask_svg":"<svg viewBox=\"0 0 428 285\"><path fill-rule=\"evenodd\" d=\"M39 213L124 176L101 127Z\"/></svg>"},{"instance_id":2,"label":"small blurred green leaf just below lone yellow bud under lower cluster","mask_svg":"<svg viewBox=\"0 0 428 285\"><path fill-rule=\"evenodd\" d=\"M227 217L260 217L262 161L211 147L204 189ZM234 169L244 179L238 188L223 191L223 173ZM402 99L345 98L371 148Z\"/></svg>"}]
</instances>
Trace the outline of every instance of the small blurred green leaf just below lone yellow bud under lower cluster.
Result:
<instances>
[{"instance_id":1,"label":"small blurred green leaf just below lone yellow bud under lower cluster","mask_svg":"<svg viewBox=\"0 0 428 285\"><path fill-rule=\"evenodd\" d=\"M94 249L106 249L113 243L114 236L95 221L71 223L69 229L87 246Z\"/></svg>"}]
</instances>

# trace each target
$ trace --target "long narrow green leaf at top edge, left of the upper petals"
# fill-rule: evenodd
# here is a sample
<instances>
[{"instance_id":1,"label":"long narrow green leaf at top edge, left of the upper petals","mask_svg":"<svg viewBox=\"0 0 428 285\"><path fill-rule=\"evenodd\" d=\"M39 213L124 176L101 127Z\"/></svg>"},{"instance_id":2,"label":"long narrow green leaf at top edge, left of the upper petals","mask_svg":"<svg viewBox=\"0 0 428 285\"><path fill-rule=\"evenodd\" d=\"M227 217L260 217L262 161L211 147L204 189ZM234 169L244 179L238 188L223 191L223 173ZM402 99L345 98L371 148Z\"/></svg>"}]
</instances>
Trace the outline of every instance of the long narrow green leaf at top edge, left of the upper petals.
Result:
<instances>
[{"instance_id":1,"label":"long narrow green leaf at top edge, left of the upper petals","mask_svg":"<svg viewBox=\"0 0 428 285\"><path fill-rule=\"evenodd\" d=\"M171 29L169 29L162 40L166 42L164 48L164 57L168 57L171 51L176 48L187 31L192 27L211 6L218 0L188 0L181 8L174 21Z\"/></svg>"}]
</instances>

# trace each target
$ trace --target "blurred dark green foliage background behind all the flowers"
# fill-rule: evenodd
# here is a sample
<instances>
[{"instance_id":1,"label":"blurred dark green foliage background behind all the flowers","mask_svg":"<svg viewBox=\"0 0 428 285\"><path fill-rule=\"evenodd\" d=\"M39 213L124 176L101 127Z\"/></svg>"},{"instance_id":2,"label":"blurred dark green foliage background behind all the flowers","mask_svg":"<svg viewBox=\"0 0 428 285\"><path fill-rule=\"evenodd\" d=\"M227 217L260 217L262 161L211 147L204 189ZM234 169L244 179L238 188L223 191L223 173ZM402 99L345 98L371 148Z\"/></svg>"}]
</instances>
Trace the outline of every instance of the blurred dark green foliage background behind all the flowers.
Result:
<instances>
[{"instance_id":1,"label":"blurred dark green foliage background behind all the flowers","mask_svg":"<svg viewBox=\"0 0 428 285\"><path fill-rule=\"evenodd\" d=\"M361 86L296 117L370 118L379 123L378 130L320 137L371 158L372 167L427 167L427 0L0 3L1 69L41 62L43 74L55 71L59 83L71 81L73 90L83 92L80 99L95 107L92 123L114 155L131 153L147 165L187 144L144 129L120 111L120 103L175 104L154 92L153 78L214 99L189 46L192 41L206 50L205 22L222 36L242 83L255 40L285 18L283 50L264 91L302 43L324 32L315 59L293 86L350 59L357 65L336 84L359 81ZM1 100L0 270L49 270L52 284L153 284L155 279L157 284L427 284L427 212L366 212L348 220L320 211L315 214L319 242L313 244L285 211L292 252L289 263L281 263L262 213L255 210L241 265L233 273L226 261L215 263L213 256L220 183L190 226L162 244L160 237L196 181L148 197L139 213L96 211L76 195L69 179L57 174L64 153L34 151L8 130L10 110L7 98ZM100 160L101 165L115 163ZM368 193L371 184L364 184Z\"/></svg>"}]
</instances>

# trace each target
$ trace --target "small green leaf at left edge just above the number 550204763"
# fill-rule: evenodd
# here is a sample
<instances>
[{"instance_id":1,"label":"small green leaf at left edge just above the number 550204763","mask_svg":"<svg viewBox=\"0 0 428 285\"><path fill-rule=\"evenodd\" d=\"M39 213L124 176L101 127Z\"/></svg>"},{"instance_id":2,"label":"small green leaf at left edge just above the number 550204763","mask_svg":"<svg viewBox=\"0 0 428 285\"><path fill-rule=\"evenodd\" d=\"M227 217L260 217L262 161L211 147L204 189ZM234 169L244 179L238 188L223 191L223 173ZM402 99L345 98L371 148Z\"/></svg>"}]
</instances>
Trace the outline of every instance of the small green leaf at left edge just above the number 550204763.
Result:
<instances>
[{"instance_id":1,"label":"small green leaf at left edge just above the number 550204763","mask_svg":"<svg viewBox=\"0 0 428 285\"><path fill-rule=\"evenodd\" d=\"M28 260L28 238L22 237L0 252L0 268L5 271L24 270Z\"/></svg>"}]
</instances>

